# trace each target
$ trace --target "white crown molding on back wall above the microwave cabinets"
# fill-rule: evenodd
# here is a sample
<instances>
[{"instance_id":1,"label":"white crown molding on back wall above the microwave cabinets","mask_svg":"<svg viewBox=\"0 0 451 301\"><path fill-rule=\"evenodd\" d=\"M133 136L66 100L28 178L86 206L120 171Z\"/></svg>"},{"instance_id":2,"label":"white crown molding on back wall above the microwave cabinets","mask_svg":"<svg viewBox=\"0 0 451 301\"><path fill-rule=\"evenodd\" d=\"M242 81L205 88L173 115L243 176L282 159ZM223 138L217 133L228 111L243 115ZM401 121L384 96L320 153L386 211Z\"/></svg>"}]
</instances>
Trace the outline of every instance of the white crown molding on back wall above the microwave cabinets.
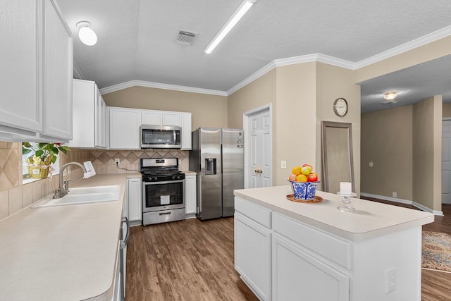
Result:
<instances>
[{"instance_id":1,"label":"white crown molding on back wall above the microwave cabinets","mask_svg":"<svg viewBox=\"0 0 451 301\"><path fill-rule=\"evenodd\" d=\"M123 82L118 85L104 87L104 88L100 89L100 93L103 95L103 94L116 92L118 90L123 90L126 88L135 87L135 86L164 89L164 90L182 91L182 92L192 92L192 93L200 93L200 94L211 94L211 95L218 95L218 96L227 96L226 91L209 90L209 89L179 86L179 85L161 84L160 82L146 82L144 80L130 80L128 82Z\"/></svg>"}]
</instances>

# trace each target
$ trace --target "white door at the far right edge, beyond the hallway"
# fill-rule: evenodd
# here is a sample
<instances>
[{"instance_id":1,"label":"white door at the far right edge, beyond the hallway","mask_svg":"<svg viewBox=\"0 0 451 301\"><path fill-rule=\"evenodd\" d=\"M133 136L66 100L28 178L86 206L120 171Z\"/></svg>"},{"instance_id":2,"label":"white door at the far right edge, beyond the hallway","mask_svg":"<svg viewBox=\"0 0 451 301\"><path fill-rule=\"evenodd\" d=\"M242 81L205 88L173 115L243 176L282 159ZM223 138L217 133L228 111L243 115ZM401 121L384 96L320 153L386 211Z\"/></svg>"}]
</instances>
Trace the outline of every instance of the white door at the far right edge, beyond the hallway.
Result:
<instances>
[{"instance_id":1,"label":"white door at the far right edge, beyond the hallway","mask_svg":"<svg viewBox=\"0 0 451 301\"><path fill-rule=\"evenodd\" d=\"M451 204L451 120L442 122L442 203Z\"/></svg>"}]
</instances>

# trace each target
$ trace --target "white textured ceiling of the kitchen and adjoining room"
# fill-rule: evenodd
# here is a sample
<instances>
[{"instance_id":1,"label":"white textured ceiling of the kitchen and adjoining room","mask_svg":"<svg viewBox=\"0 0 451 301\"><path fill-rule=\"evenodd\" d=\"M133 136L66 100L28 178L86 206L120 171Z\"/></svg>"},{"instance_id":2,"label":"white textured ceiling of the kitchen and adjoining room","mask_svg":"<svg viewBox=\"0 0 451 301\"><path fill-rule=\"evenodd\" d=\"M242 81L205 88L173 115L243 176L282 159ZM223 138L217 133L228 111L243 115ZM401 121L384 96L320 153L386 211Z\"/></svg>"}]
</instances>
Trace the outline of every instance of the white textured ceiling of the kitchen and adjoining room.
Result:
<instances>
[{"instance_id":1,"label":"white textured ceiling of the kitchen and adjoining room","mask_svg":"<svg viewBox=\"0 0 451 301\"><path fill-rule=\"evenodd\" d=\"M92 47L74 39L74 60L83 77L100 88L144 80L227 91L275 59L324 54L358 63L451 25L449 0L259 0L214 52L205 54L240 3L58 0L74 37L80 20L88 20L97 32L99 42ZM199 35L192 46L175 44L178 30ZM428 63L412 68L405 70L409 77L428 69ZM449 70L440 69L443 78L450 78ZM388 76L362 83L362 111L381 109L371 106L370 95L389 84L397 90L397 79L404 75ZM421 78L412 82L419 90L427 83Z\"/></svg>"}]
</instances>

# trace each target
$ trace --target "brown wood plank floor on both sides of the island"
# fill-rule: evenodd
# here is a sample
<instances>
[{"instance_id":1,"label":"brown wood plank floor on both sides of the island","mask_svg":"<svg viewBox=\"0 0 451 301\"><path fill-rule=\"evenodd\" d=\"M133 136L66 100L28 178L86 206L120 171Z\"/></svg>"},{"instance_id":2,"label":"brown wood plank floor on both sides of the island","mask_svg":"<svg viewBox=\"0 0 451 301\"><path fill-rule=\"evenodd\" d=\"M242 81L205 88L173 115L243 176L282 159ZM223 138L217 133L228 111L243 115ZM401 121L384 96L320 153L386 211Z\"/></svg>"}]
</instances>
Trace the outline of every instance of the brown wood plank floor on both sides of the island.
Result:
<instances>
[{"instance_id":1,"label":"brown wood plank floor on both sides of the island","mask_svg":"<svg viewBox=\"0 0 451 301\"><path fill-rule=\"evenodd\" d=\"M443 213L423 230L451 234L451 205ZM233 262L233 218L132 227L125 300L257 300ZM422 301L451 301L451 274L422 270L421 276Z\"/></svg>"}]
</instances>

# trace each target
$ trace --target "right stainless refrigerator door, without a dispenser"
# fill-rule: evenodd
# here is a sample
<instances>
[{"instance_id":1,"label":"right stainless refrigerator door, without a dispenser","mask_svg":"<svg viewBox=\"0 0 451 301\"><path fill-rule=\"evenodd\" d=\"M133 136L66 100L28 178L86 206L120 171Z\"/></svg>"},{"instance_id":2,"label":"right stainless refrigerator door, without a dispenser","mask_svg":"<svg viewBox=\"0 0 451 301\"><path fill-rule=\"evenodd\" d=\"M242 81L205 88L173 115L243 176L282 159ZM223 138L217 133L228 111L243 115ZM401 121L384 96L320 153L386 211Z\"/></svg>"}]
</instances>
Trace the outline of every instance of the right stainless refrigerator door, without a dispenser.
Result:
<instances>
[{"instance_id":1,"label":"right stainless refrigerator door, without a dispenser","mask_svg":"<svg viewBox=\"0 0 451 301\"><path fill-rule=\"evenodd\" d=\"M223 160L223 216L233 216L235 202L233 190L245 185L245 158L243 132L239 129L222 129Z\"/></svg>"}]
</instances>

